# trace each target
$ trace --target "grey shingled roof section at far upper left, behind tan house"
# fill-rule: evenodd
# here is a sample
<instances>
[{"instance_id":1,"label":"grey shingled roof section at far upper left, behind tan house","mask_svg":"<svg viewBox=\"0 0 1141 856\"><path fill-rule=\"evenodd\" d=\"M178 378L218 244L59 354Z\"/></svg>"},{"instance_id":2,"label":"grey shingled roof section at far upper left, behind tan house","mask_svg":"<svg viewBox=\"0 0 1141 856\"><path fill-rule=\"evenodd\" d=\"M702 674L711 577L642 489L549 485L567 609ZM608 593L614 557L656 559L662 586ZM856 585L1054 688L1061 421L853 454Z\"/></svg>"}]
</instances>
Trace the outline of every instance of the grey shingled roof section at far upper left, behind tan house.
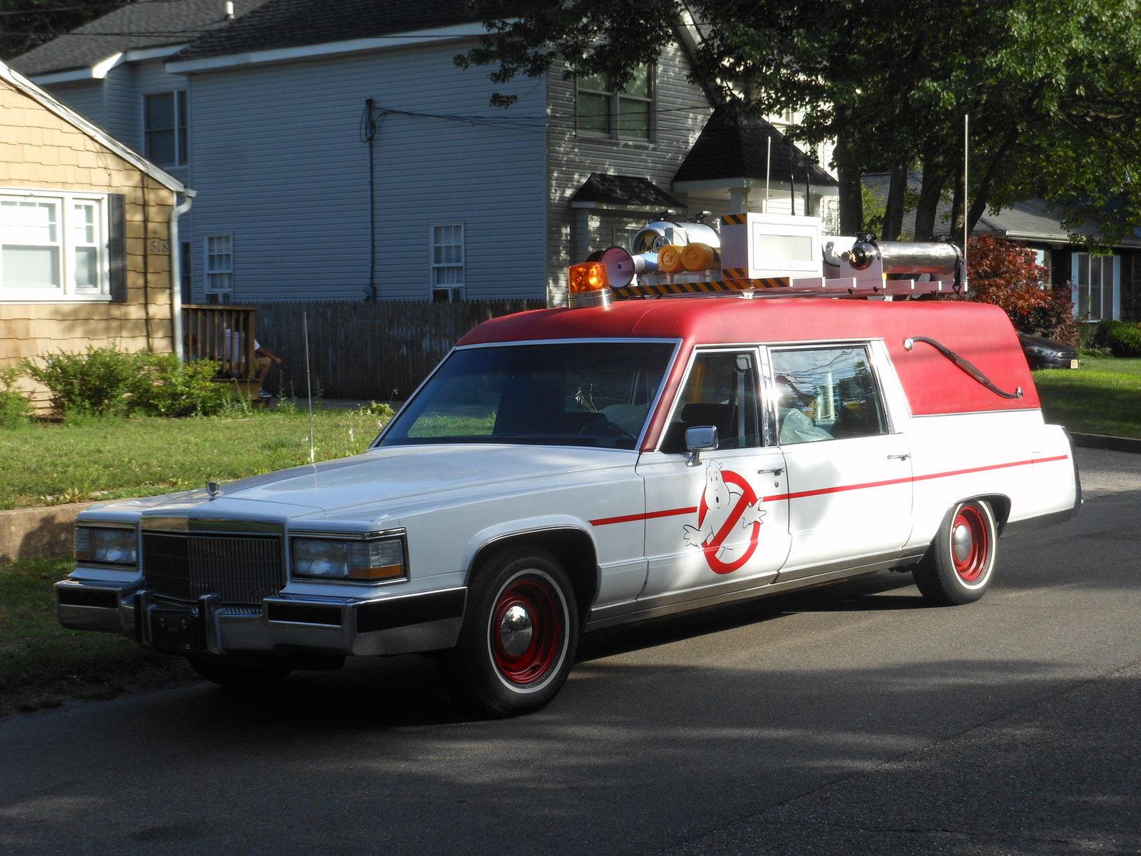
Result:
<instances>
[{"instance_id":1,"label":"grey shingled roof section at far upper left, behind tan house","mask_svg":"<svg viewBox=\"0 0 1141 856\"><path fill-rule=\"evenodd\" d=\"M234 21L227 21L224 0L129 3L33 48L13 59L11 65L24 74L40 75L88 68L128 50L186 45L204 33L233 25L265 2L234 0Z\"/></svg>"}]
</instances>

